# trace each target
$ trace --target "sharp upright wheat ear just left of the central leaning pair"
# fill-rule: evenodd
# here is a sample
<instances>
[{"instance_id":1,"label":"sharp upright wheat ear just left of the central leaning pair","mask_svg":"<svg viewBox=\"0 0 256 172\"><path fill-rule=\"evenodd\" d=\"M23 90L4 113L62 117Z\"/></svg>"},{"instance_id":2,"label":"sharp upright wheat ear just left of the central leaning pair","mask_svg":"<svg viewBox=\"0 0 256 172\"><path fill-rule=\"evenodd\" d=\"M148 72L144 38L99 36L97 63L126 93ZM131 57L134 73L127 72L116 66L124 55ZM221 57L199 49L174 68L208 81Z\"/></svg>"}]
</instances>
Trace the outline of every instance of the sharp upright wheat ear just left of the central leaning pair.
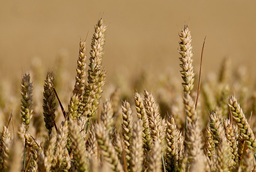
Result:
<instances>
[{"instance_id":1,"label":"sharp upright wheat ear just left of the central leaning pair","mask_svg":"<svg viewBox=\"0 0 256 172\"><path fill-rule=\"evenodd\" d=\"M129 102L126 100L122 103L122 114L123 114L123 121L122 121L122 135L124 137L124 151L126 152L126 162L128 166L128 170L130 167L130 147L132 143L132 109L130 107Z\"/></svg>"}]
</instances>

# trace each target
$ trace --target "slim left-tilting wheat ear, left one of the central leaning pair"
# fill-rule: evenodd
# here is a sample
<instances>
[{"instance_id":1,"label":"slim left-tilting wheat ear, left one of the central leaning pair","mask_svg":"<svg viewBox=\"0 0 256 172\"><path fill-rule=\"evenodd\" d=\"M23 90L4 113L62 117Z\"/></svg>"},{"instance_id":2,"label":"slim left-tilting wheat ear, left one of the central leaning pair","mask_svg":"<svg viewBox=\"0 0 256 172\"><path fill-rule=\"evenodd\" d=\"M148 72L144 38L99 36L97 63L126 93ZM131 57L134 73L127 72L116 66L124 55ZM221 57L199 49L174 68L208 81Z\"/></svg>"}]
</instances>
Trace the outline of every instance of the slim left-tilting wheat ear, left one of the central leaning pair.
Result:
<instances>
[{"instance_id":1,"label":"slim left-tilting wheat ear, left one of the central leaning pair","mask_svg":"<svg viewBox=\"0 0 256 172\"><path fill-rule=\"evenodd\" d=\"M135 107L137 111L138 119L142 120L142 137L143 137L143 145L147 151L151 149L151 135L150 135L150 127L148 123L148 116L146 115L146 110L144 108L144 104L142 101L142 97L138 92L134 93L134 101Z\"/></svg>"}]
</instances>

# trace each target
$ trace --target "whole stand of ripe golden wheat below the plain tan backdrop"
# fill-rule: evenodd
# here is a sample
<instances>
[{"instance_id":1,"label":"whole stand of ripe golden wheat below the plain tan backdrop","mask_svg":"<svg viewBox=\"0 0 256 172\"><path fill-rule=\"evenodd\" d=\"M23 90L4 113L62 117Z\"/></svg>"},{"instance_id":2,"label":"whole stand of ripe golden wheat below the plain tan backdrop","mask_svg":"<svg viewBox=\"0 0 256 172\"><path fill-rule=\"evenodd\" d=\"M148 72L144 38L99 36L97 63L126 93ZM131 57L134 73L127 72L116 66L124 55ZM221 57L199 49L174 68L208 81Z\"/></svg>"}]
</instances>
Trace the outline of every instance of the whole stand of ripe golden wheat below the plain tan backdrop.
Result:
<instances>
[{"instance_id":1,"label":"whole stand of ripe golden wheat below the plain tan backdrop","mask_svg":"<svg viewBox=\"0 0 256 172\"><path fill-rule=\"evenodd\" d=\"M22 73L13 95L2 84L1 171L255 171L256 92L244 70L224 58L218 74L199 82L185 25L176 43L183 81L154 78L157 89L146 90L144 72L134 90L121 91L106 82L107 32L100 18L91 45L80 40L76 76L60 61L44 82L40 65Z\"/></svg>"}]
</instances>

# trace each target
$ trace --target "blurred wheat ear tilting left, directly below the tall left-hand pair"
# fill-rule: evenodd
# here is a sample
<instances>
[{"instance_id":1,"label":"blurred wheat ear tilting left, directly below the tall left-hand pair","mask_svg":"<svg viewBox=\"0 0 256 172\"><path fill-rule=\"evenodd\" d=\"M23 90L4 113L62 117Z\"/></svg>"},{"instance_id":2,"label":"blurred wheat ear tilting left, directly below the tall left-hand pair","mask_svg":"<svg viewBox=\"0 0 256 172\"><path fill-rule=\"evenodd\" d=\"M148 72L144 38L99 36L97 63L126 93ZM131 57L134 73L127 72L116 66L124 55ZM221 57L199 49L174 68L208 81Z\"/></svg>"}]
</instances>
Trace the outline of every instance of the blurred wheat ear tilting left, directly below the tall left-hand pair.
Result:
<instances>
[{"instance_id":1,"label":"blurred wheat ear tilting left, directly below the tall left-hand pair","mask_svg":"<svg viewBox=\"0 0 256 172\"><path fill-rule=\"evenodd\" d=\"M76 161L75 164L77 166L78 172L85 172L88 171L88 155L85 151L84 142L82 140L82 136L79 130L76 121L70 119L69 125L69 132L70 132L70 140L71 140L71 147L73 151L73 159Z\"/></svg>"}]
</instances>

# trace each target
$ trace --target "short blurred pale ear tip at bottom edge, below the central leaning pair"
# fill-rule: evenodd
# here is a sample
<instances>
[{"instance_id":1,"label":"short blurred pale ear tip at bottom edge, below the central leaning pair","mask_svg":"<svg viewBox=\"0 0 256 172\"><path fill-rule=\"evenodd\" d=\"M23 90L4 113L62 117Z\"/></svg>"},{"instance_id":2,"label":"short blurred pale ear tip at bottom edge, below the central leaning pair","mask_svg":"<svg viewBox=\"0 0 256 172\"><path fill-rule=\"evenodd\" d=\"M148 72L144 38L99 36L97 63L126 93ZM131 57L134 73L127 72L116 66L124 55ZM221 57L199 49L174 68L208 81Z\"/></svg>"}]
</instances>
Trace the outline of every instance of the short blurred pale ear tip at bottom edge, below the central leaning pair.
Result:
<instances>
[{"instance_id":1,"label":"short blurred pale ear tip at bottom edge, below the central leaning pair","mask_svg":"<svg viewBox=\"0 0 256 172\"><path fill-rule=\"evenodd\" d=\"M162 171L162 145L160 145L160 140L156 140L154 147L152 148L152 154L149 157L148 172L161 172Z\"/></svg>"}]
</instances>

